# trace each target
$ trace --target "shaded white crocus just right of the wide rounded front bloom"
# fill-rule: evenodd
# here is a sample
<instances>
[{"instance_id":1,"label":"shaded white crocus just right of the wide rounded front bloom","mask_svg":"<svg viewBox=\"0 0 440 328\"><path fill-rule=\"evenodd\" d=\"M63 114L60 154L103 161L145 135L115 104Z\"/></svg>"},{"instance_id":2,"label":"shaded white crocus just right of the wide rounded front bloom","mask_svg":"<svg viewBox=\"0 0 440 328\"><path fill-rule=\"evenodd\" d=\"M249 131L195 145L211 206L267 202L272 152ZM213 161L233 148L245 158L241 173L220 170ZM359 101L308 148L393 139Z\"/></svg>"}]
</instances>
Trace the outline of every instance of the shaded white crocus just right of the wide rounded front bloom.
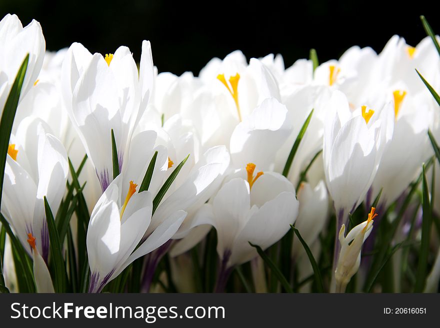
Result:
<instances>
[{"instance_id":1,"label":"shaded white crocus just right of the wide rounded front bloom","mask_svg":"<svg viewBox=\"0 0 440 328\"><path fill-rule=\"evenodd\" d=\"M312 245L322 231L328 213L327 189L321 180L316 187L312 188L308 183L300 184L297 191L299 202L298 217L295 227L301 233L307 245ZM297 238L293 239L292 257L295 258L304 253L304 248Z\"/></svg>"}]
</instances>

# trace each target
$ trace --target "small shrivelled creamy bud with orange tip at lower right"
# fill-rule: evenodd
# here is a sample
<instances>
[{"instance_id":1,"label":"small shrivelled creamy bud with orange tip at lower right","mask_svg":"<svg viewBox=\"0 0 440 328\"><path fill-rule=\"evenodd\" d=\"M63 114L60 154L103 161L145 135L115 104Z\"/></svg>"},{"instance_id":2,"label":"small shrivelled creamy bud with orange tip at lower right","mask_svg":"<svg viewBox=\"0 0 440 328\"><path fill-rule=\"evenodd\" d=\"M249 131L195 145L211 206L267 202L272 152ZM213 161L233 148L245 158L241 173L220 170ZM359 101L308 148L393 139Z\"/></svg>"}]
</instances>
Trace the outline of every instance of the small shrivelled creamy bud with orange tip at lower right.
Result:
<instances>
[{"instance_id":1,"label":"small shrivelled creamy bud with orange tip at lower right","mask_svg":"<svg viewBox=\"0 0 440 328\"><path fill-rule=\"evenodd\" d=\"M368 214L368 219L357 226L353 227L350 232L345 234L345 225L342 224L339 230L340 252L337 260L337 267L334 272L335 284L331 287L332 292L343 293L350 281L351 277L359 269L360 265L360 250L363 242L371 233L373 219L377 216L374 213L375 208L371 207L371 212Z\"/></svg>"}]
</instances>

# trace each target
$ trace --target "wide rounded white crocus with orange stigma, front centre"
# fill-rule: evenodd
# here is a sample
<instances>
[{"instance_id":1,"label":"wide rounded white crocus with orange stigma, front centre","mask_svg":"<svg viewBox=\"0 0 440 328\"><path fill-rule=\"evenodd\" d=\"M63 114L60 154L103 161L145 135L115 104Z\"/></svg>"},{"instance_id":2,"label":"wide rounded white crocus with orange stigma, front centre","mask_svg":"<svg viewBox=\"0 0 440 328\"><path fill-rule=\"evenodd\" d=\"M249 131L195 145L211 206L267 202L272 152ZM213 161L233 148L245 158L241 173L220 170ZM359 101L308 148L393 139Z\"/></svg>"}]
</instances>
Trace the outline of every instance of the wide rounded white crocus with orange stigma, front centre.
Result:
<instances>
[{"instance_id":1,"label":"wide rounded white crocus with orange stigma, front centre","mask_svg":"<svg viewBox=\"0 0 440 328\"><path fill-rule=\"evenodd\" d=\"M248 242L265 250L284 236L298 214L295 190L286 178L254 173L253 163L233 173L195 215L194 226L210 224L217 231L223 274L257 256Z\"/></svg>"}]
</instances>

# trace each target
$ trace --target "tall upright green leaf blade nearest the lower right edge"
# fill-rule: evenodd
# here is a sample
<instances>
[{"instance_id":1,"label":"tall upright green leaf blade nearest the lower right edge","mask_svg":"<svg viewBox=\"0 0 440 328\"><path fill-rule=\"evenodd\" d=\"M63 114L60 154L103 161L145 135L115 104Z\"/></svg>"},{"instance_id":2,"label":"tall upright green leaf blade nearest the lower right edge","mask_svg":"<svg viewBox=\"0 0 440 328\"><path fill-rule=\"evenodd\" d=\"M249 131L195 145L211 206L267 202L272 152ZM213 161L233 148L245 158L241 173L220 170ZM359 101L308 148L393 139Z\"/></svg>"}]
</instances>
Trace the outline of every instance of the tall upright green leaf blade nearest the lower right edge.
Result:
<instances>
[{"instance_id":1,"label":"tall upright green leaf blade nearest the lower right edge","mask_svg":"<svg viewBox=\"0 0 440 328\"><path fill-rule=\"evenodd\" d=\"M428 255L429 255L429 236L431 233L431 207L429 202L429 190L428 183L426 180L426 172L425 166L422 166L422 181L421 181L421 206L423 210L422 215L422 223L421 223L421 245L420 251L418 253L418 265L417 265L417 273L415 276L415 286L414 293L423 292L424 286L426 284L426 272L427 272L427 264L428 264Z\"/></svg>"}]
</instances>

